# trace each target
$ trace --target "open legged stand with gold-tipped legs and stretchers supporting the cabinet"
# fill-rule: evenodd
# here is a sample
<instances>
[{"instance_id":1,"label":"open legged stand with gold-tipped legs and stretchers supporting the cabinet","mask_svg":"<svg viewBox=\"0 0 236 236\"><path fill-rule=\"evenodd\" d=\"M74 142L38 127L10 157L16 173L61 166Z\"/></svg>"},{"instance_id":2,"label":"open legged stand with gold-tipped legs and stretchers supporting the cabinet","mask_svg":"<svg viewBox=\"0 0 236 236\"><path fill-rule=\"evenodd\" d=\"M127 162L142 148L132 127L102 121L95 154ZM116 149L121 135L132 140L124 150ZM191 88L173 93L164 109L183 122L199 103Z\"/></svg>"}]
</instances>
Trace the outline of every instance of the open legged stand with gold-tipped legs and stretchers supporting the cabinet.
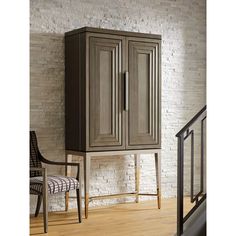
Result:
<instances>
[{"instance_id":1,"label":"open legged stand with gold-tipped legs and stretchers supporting the cabinet","mask_svg":"<svg viewBox=\"0 0 236 236\"><path fill-rule=\"evenodd\" d=\"M140 193L140 154L154 154L155 157L155 171L156 171L156 193ZM90 163L92 157L103 156L124 156L134 155L135 162L135 191L128 193L117 193L109 195L90 196L89 195L89 180L90 180ZM125 150L125 151L104 151L104 152L77 152L66 150L66 162L73 162L78 160L78 157L83 157L84 166L84 205L85 218L88 218L89 202L96 199L120 198L120 197L135 197L135 201L139 202L139 196L156 196L158 209L161 208L161 149L147 149L147 150ZM66 166L66 175L71 175L71 167ZM69 193L65 195L65 210L69 207Z\"/></svg>"}]
</instances>

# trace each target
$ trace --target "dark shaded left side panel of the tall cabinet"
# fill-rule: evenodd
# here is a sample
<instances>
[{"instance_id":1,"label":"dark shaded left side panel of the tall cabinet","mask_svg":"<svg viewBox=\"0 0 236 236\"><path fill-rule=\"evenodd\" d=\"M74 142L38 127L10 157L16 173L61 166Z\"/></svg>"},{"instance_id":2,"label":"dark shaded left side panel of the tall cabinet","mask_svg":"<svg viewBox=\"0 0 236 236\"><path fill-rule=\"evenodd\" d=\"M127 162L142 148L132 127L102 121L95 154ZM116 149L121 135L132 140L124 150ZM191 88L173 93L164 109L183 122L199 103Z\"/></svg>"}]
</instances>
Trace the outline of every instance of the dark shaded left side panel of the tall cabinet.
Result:
<instances>
[{"instance_id":1,"label":"dark shaded left side panel of the tall cabinet","mask_svg":"<svg viewBox=\"0 0 236 236\"><path fill-rule=\"evenodd\" d=\"M81 147L79 35L65 37L65 148Z\"/></svg>"}]
</instances>

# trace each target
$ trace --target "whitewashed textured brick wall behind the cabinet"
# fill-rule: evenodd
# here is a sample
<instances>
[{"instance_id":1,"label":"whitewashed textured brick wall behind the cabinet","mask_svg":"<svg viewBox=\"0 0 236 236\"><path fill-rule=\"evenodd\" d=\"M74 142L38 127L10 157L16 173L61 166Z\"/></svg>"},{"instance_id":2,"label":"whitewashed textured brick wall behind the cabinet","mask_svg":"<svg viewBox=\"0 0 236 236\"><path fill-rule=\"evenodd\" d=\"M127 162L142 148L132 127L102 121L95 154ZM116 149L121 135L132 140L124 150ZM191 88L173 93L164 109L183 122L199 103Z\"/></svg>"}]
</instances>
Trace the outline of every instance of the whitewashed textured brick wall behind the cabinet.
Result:
<instances>
[{"instance_id":1,"label":"whitewashed textured brick wall behind the cabinet","mask_svg":"<svg viewBox=\"0 0 236 236\"><path fill-rule=\"evenodd\" d=\"M64 32L92 26L161 34L162 195L176 196L175 134L206 104L205 8L205 0L31 0L30 128L37 131L45 157L64 160ZM154 158L143 155L141 161L141 191L154 192ZM95 159L91 194L132 190L133 167L130 156ZM50 210L64 208L63 195L49 200ZM131 199L97 200L91 205L125 200ZM34 209L31 197L31 212Z\"/></svg>"}]
</instances>

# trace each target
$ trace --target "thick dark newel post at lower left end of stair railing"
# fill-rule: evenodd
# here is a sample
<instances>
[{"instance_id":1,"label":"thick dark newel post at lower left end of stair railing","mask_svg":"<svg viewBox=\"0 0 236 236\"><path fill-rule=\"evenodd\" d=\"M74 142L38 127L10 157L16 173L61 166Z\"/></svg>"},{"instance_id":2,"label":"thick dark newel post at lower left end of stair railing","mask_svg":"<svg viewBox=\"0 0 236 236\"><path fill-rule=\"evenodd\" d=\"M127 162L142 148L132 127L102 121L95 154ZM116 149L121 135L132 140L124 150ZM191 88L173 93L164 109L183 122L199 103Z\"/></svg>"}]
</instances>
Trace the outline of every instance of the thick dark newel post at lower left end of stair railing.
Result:
<instances>
[{"instance_id":1,"label":"thick dark newel post at lower left end of stair railing","mask_svg":"<svg viewBox=\"0 0 236 236\"><path fill-rule=\"evenodd\" d=\"M178 136L178 166L177 166L177 236L183 233L183 192L184 192L184 136Z\"/></svg>"}]
</instances>

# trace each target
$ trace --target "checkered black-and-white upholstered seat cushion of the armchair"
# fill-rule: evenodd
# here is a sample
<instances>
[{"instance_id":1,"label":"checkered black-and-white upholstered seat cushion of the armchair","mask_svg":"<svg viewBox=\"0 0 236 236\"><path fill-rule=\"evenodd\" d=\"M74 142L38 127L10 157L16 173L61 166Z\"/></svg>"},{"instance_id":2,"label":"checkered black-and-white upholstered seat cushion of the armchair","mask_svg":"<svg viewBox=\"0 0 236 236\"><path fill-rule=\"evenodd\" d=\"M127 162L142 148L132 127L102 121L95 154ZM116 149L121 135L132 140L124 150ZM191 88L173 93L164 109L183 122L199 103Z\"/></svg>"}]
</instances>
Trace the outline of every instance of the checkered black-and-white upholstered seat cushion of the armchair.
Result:
<instances>
[{"instance_id":1,"label":"checkered black-and-white upholstered seat cushion of the armchair","mask_svg":"<svg viewBox=\"0 0 236 236\"><path fill-rule=\"evenodd\" d=\"M54 194L75 190L79 187L79 182L73 177L66 176L48 176L48 193ZM43 177L36 176L30 178L30 194L42 194L43 192Z\"/></svg>"}]
</instances>

